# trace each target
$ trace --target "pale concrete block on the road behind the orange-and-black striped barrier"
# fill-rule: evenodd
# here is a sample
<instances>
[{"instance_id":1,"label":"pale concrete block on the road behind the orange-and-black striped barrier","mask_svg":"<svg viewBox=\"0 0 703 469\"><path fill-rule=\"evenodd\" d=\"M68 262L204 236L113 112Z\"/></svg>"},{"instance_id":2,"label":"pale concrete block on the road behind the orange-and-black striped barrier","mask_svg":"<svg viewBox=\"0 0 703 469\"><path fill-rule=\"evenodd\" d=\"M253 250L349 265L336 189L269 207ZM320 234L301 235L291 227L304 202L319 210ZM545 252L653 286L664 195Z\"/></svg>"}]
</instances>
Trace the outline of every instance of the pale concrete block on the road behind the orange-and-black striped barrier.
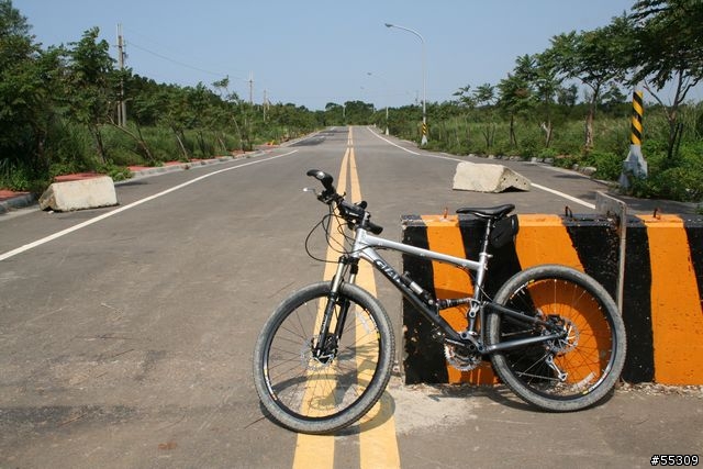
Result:
<instances>
[{"instance_id":1,"label":"pale concrete block on the road behind the orange-and-black striped barrier","mask_svg":"<svg viewBox=\"0 0 703 469\"><path fill-rule=\"evenodd\" d=\"M461 161L454 175L455 190L503 192L507 189L528 191L529 179L503 165Z\"/></svg>"}]
</instances>

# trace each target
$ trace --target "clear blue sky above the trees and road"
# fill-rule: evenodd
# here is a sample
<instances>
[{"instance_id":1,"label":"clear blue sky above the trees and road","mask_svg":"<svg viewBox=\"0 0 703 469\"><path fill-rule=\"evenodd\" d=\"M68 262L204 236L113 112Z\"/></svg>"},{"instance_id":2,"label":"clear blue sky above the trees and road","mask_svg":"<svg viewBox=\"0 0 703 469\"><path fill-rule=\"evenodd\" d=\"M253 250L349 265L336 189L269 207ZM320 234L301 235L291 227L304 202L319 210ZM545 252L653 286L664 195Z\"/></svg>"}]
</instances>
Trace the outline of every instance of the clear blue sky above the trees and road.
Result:
<instances>
[{"instance_id":1,"label":"clear blue sky above the trees and road","mask_svg":"<svg viewBox=\"0 0 703 469\"><path fill-rule=\"evenodd\" d=\"M377 107L422 99L420 40L425 40L427 101L466 85L498 83L515 58L549 38L592 30L629 11L634 0L13 0L45 47L100 27L116 44L122 24L135 74L159 82L210 85L261 102L324 109L348 100ZM116 57L116 48L111 48ZM369 75L370 74L370 75Z\"/></svg>"}]
</instances>

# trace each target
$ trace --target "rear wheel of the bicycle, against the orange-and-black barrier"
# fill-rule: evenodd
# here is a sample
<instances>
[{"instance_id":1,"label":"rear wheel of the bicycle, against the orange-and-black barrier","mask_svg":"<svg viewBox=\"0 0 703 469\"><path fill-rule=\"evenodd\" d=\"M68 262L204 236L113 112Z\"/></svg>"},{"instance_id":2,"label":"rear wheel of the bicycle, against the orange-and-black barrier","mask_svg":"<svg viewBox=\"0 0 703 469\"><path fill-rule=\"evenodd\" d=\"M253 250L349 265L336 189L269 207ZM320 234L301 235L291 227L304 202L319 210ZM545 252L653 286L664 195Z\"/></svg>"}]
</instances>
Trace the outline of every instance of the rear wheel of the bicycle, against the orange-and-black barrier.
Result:
<instances>
[{"instance_id":1,"label":"rear wheel of the bicycle, against the orange-and-black barrier","mask_svg":"<svg viewBox=\"0 0 703 469\"><path fill-rule=\"evenodd\" d=\"M625 362L625 326L615 302L593 278L566 266L536 266L509 279L494 301L543 317L558 316L569 330L566 340L491 356L499 378L524 401L550 412L571 412L596 404L613 389ZM487 327L491 345L542 334L496 312L488 314ZM566 379L558 379L549 356Z\"/></svg>"}]
</instances>

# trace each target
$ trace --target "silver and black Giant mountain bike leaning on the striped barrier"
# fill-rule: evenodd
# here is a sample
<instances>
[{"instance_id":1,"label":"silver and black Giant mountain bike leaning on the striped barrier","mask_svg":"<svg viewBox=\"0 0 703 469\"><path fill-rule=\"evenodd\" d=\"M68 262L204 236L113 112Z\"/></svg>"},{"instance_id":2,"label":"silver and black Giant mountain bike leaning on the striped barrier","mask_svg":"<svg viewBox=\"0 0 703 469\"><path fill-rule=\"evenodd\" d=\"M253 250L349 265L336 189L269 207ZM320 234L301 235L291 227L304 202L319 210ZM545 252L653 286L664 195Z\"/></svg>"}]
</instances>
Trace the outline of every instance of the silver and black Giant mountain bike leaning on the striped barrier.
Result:
<instances>
[{"instance_id":1,"label":"silver and black Giant mountain bike leaning on the striped barrier","mask_svg":"<svg viewBox=\"0 0 703 469\"><path fill-rule=\"evenodd\" d=\"M322 170L311 169L308 176L324 190L306 190L330 210L315 227L324 227L330 243L331 220L336 217L354 236L345 236L333 279L283 300L257 339L256 391L280 425L310 434L338 431L364 416L390 380L390 320L379 300L355 284L359 260L370 263L434 324L434 338L444 344L450 365L469 370L488 357L507 388L550 412L587 409L613 389L625 361L625 327L614 301L593 278L566 266L542 265L515 273L494 298L484 293L491 247L512 242L518 231L513 204L457 210L486 222L481 252L472 260L380 237L382 227L370 221L366 202L345 201ZM308 239L305 249L311 255ZM475 272L473 294L433 298L377 249ZM467 327L455 331L439 311L460 304L467 309Z\"/></svg>"}]
</instances>

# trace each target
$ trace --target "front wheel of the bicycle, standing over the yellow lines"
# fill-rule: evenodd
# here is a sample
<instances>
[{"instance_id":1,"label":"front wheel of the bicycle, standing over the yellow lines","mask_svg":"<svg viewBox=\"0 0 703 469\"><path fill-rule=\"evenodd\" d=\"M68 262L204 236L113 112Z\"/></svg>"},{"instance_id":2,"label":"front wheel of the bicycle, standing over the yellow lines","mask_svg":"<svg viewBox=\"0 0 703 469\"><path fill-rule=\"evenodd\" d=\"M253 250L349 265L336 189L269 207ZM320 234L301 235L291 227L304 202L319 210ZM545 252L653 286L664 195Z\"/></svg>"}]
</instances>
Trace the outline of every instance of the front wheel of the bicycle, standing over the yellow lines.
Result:
<instances>
[{"instance_id":1,"label":"front wheel of the bicycle, standing over the yellow lines","mask_svg":"<svg viewBox=\"0 0 703 469\"><path fill-rule=\"evenodd\" d=\"M338 353L326 364L312 357L330 291L330 282L320 282L284 300L254 348L254 383L261 404L294 432L326 434L353 424L376 404L391 377L390 320L378 300L355 284L339 288L335 312L344 300L350 308Z\"/></svg>"}]
</instances>

